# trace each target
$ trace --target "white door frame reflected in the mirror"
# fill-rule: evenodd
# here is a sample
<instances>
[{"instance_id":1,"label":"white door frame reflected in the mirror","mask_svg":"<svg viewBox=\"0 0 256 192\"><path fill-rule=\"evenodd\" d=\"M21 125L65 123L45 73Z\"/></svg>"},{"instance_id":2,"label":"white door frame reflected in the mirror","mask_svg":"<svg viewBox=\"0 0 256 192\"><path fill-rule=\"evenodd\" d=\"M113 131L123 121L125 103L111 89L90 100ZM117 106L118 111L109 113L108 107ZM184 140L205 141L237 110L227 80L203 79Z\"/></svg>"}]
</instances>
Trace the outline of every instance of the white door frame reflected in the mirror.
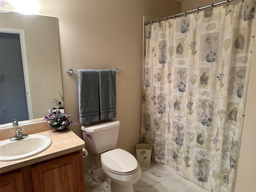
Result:
<instances>
[{"instance_id":1,"label":"white door frame reflected in the mirror","mask_svg":"<svg viewBox=\"0 0 256 192\"><path fill-rule=\"evenodd\" d=\"M27 98L27 105L28 105L28 118L34 119L31 92L30 92L30 81L29 81L29 74L28 74L28 59L27 59L27 51L26 51L26 43L25 43L25 32L23 29L12 29L12 28L2 28L2 27L0 27L0 32L20 34L20 47L21 47L22 64L23 64L23 71L24 71L26 98Z\"/></svg>"}]
</instances>

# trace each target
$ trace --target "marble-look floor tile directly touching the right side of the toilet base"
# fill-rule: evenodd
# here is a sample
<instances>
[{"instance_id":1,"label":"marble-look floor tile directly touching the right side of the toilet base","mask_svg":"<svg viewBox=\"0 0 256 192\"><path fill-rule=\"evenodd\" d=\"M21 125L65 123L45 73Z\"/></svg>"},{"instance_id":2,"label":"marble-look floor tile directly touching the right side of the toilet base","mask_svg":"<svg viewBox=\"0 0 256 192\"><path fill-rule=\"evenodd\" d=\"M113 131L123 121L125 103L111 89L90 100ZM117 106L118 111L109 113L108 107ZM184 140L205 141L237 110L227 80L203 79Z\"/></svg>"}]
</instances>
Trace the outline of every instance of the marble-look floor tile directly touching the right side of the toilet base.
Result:
<instances>
[{"instance_id":1,"label":"marble-look floor tile directly touching the right side of the toilet base","mask_svg":"<svg viewBox=\"0 0 256 192\"><path fill-rule=\"evenodd\" d=\"M148 188L161 182L160 179L156 178L147 170L143 170L140 176L140 180L133 185L134 192L143 192Z\"/></svg>"}]
</instances>

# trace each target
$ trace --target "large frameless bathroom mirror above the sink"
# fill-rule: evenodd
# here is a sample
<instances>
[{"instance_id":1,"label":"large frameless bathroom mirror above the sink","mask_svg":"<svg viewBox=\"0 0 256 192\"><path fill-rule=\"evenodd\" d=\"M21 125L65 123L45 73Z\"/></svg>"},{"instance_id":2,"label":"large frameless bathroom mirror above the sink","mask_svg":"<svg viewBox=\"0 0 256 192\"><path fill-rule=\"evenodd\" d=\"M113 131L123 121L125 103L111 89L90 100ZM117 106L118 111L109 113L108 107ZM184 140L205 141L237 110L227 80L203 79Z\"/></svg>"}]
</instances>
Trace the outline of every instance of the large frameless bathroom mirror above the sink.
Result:
<instances>
[{"instance_id":1,"label":"large frameless bathroom mirror above the sink","mask_svg":"<svg viewBox=\"0 0 256 192\"><path fill-rule=\"evenodd\" d=\"M29 94L31 95L30 101L27 98L27 103L29 104L30 102L32 111L30 110L30 112L28 112L30 113L28 119L23 120L26 120L24 123L29 123L33 121L32 119L43 119L44 114L47 114L47 110L58 107L54 101L56 102L56 100L58 100L62 102L61 105L63 106L61 98L62 80L60 72L58 20L57 18L48 16L23 15L16 12L0 12L0 30L1 33L4 30L5 33L16 33L15 30L24 31L23 44L26 46L22 48L23 50L21 51L24 68L24 82L26 82L25 94L27 97L30 97ZM6 30L8 32L6 32ZM12 32L12 30L14 30L14 32ZM24 52L26 52L26 58L23 56ZM3 62L1 65L4 65ZM3 84L10 87L10 82L8 82L7 77L10 73L15 71L17 71L16 68L9 68L7 72L4 72L1 66L1 89ZM30 93L28 91L29 89ZM8 91L5 91L5 96L2 96L2 92L3 91L1 90L0 128L6 128L7 126L12 127L12 124L9 122L12 122L13 117L16 117L18 122L20 122L20 112L18 112L18 107L16 107L13 101L22 101L13 99L13 96L16 94L18 95L19 92L14 92L8 95ZM6 106L6 103L8 102L12 103L13 106ZM9 114L11 114L11 116L8 116ZM4 122L4 124L2 122ZM22 124L22 122L19 124Z\"/></svg>"}]
</instances>

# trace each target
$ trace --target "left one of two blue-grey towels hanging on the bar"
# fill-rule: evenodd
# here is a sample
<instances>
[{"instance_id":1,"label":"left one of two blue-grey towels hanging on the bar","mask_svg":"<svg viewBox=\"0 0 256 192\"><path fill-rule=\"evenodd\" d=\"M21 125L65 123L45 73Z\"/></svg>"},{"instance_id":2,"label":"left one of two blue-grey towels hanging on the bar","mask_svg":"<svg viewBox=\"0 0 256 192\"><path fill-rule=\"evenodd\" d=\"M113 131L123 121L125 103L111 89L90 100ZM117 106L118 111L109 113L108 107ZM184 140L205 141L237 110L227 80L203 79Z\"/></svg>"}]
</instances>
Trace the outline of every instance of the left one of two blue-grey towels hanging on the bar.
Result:
<instances>
[{"instance_id":1,"label":"left one of two blue-grey towels hanging on the bar","mask_svg":"<svg viewBox=\"0 0 256 192\"><path fill-rule=\"evenodd\" d=\"M78 70L78 101L81 124L99 120L98 70Z\"/></svg>"}]
</instances>

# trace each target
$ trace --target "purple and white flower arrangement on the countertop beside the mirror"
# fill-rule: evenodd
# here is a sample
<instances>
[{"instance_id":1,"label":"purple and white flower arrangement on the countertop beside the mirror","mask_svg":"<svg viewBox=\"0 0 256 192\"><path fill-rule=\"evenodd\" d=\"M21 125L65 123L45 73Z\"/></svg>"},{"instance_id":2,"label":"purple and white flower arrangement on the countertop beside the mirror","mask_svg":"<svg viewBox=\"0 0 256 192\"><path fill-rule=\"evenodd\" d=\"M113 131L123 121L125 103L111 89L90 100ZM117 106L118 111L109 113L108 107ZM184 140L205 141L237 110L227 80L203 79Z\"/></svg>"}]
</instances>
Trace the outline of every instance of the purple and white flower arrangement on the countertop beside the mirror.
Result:
<instances>
[{"instance_id":1,"label":"purple and white flower arrangement on the countertop beside the mirror","mask_svg":"<svg viewBox=\"0 0 256 192\"><path fill-rule=\"evenodd\" d=\"M68 126L74 126L76 123L72 123L69 114L64 114L60 110L53 111L50 109L50 114L46 116L44 114L44 119L48 122L48 126L56 128L56 130L65 130Z\"/></svg>"}]
</instances>

